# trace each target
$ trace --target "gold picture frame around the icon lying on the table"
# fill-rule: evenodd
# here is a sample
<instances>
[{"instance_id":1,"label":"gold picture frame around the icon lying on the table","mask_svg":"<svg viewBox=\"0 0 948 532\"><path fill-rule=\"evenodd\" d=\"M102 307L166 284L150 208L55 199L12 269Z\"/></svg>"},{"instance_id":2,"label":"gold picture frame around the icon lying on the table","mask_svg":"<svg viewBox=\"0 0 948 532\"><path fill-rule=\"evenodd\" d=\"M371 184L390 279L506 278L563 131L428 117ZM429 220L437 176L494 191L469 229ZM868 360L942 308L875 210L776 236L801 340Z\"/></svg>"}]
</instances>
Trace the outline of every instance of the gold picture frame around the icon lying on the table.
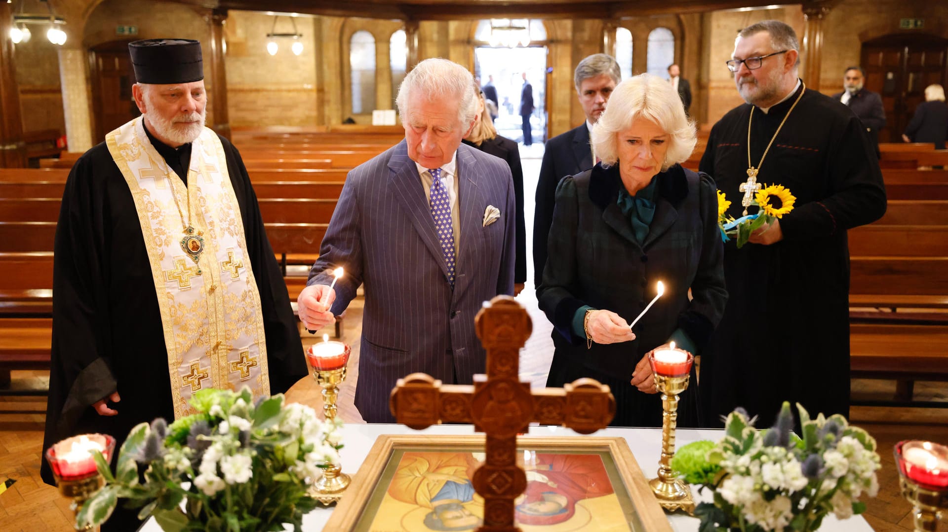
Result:
<instances>
[{"instance_id":1,"label":"gold picture frame around the icon lying on the table","mask_svg":"<svg viewBox=\"0 0 948 532\"><path fill-rule=\"evenodd\" d=\"M577 455L577 454L598 454L602 457L603 470L609 475L611 489L615 498L609 497L612 505L617 500L621 506L623 518L618 521L626 523L628 528L607 527L604 528L601 523L591 523L590 526L595 530L618 530L628 529L633 532L647 530L657 532L671 532L671 525L665 517L665 511L658 504L655 496L652 494L648 482L639 469L632 452L629 451L629 445L625 438L614 436L520 436L517 442L519 452L541 453L543 456L557 455ZM392 486L392 477L394 471L406 456L406 452L411 455L431 453L431 455L440 455L448 452L467 453L483 452L484 436L483 434L471 435L429 435L429 434L382 434L375 441L372 450L366 456L365 461L353 477L353 482L346 490L342 500L339 501L336 509L333 511L326 530L353 530L353 531L373 531L373 532L394 532L398 530L438 530L439 528L429 528L421 526L420 515L432 514L429 508L416 506L419 512L409 512L418 514L410 517L409 514L402 514L398 511L395 515L384 514L380 512L383 505L389 509L392 504L399 504L397 501L392 503L392 497L387 495ZM535 456L537 454L534 454ZM405 458L407 459L407 458ZM566 458L564 458L566 460ZM556 484L551 484L556 486ZM528 488L529 489L529 488ZM605 499L605 498L603 498ZM434 500L433 498L431 499ZM592 501L592 499L590 499ZM593 513L600 515L597 511L585 509L582 502L574 502L571 507L571 516L580 516L579 510L586 511L587 514ZM471 504L476 504L471 502ZM404 506L408 507L408 506ZM376 518L384 517L384 526L380 526ZM414 519L412 525L406 525L405 520ZM572 519L572 517L571 517ZM401 520L401 521L399 521ZM575 522L576 520L574 520ZM615 520L610 520L610 523ZM396 523L397 522L397 523ZM574 523L571 522L571 523ZM375 523L375 524L373 524ZM427 524L427 523L426 523ZM566 524L566 523L564 523ZM594 524L594 526L593 526ZM576 526L555 526L555 525L535 525L522 524L521 528L526 530L583 530L586 528L577 528ZM448 529L448 528L444 528ZM476 527L471 527L474 530Z\"/></svg>"}]
</instances>

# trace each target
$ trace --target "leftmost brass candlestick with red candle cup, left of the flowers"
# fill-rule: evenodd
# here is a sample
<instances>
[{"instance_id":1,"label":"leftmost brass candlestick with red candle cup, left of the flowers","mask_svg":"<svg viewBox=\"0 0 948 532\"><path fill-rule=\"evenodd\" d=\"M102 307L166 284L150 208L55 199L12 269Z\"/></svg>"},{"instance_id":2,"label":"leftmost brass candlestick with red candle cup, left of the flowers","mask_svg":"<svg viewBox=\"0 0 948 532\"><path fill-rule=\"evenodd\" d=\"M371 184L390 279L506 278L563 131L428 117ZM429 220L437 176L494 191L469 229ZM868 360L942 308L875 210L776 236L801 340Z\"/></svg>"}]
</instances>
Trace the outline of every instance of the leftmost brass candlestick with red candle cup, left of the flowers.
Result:
<instances>
[{"instance_id":1,"label":"leftmost brass candlestick with red candle cup, left of the flowers","mask_svg":"<svg viewBox=\"0 0 948 532\"><path fill-rule=\"evenodd\" d=\"M61 495L72 499L70 508L75 517L79 516L82 505L105 486L105 478L96 468L95 458L87 451L92 449L88 446L90 442L98 444L94 448L100 450L106 463L111 461L116 440L108 434L73 436L46 450L46 461L53 470L56 487ZM77 523L77 530L92 529L91 525L79 528Z\"/></svg>"}]
</instances>

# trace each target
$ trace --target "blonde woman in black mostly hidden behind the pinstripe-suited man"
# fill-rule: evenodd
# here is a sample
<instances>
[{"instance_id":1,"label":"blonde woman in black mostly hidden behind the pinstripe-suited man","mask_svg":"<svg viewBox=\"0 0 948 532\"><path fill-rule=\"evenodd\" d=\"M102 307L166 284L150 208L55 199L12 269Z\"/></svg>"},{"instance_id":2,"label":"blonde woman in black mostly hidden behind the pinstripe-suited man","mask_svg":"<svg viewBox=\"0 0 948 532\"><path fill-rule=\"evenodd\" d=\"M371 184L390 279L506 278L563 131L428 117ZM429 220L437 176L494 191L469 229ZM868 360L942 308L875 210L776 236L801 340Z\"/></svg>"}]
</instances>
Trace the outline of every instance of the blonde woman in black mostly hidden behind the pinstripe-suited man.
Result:
<instances>
[{"instance_id":1,"label":"blonde woman in black mostly hidden behind the pinstripe-suited man","mask_svg":"<svg viewBox=\"0 0 948 532\"><path fill-rule=\"evenodd\" d=\"M471 133L462 141L484 153L490 153L507 162L510 173L514 176L514 195L517 199L517 247L514 258L514 295L523 290L523 283L527 280L527 231L523 222L523 168L520 166L520 151L517 143L507 137L497 134L494 121L490 118L484 104L481 87L474 84L474 93L478 96L478 115Z\"/></svg>"}]
</instances>

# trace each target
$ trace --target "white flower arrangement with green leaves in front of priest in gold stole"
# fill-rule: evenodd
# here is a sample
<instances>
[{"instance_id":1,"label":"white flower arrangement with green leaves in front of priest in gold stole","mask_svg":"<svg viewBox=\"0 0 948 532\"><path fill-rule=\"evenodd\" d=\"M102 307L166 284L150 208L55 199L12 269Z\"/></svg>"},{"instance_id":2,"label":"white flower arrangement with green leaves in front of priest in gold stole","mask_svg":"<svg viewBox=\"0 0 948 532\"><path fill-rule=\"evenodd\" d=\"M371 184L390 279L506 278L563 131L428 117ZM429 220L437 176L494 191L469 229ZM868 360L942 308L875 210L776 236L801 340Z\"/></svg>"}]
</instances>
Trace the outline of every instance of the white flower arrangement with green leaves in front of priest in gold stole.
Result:
<instances>
[{"instance_id":1,"label":"white flower arrangement with green leaves in front of priest in gold stole","mask_svg":"<svg viewBox=\"0 0 948 532\"><path fill-rule=\"evenodd\" d=\"M166 531L299 530L317 505L308 495L324 468L338 464L341 421L321 421L312 408L283 404L283 395L252 400L246 388L201 390L197 414L141 423L118 453L115 475L97 456L106 486L77 516L105 522L118 504L141 507ZM184 507L182 507L184 503Z\"/></svg>"}]
</instances>

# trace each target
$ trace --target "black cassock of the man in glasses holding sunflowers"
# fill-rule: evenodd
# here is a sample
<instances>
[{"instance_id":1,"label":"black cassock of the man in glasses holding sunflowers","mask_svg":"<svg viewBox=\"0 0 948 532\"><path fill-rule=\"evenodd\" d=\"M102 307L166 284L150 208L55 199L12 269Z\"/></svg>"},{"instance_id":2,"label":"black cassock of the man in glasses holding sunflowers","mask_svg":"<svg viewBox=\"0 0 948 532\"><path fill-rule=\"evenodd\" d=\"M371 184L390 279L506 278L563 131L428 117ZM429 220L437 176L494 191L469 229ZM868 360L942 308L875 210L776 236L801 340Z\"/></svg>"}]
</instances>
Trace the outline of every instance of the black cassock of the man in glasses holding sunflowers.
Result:
<instances>
[{"instance_id":1,"label":"black cassock of the man in glasses holding sunflowers","mask_svg":"<svg viewBox=\"0 0 948 532\"><path fill-rule=\"evenodd\" d=\"M724 244L730 298L702 351L705 423L742 406L768 427L784 400L816 416L849 413L849 252L847 229L885 212L879 160L865 128L839 101L807 89L776 136L802 86L764 114L754 112L751 161L757 183L783 185L796 197L772 245ZM752 106L741 105L715 124L702 157L741 216L738 191L747 181L747 128ZM756 206L749 213L757 212ZM795 410L794 410L795 412Z\"/></svg>"}]
</instances>

